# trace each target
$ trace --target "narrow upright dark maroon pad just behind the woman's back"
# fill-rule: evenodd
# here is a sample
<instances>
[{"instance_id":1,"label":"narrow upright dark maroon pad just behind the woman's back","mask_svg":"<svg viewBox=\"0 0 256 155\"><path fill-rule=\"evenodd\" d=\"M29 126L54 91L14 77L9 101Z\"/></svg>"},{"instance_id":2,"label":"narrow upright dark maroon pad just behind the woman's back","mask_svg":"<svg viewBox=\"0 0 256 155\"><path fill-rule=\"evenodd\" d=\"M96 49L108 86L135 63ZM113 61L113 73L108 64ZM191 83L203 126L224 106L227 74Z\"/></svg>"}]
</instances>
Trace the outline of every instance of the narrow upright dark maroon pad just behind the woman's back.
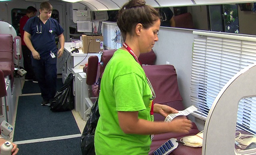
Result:
<instances>
[{"instance_id":1,"label":"narrow upright dark maroon pad just behind the woman's back","mask_svg":"<svg viewBox=\"0 0 256 155\"><path fill-rule=\"evenodd\" d=\"M93 85L97 78L98 72L98 56L90 56L88 58L88 66L85 70L86 72L86 83L88 85Z\"/></svg>"}]
</instances>

